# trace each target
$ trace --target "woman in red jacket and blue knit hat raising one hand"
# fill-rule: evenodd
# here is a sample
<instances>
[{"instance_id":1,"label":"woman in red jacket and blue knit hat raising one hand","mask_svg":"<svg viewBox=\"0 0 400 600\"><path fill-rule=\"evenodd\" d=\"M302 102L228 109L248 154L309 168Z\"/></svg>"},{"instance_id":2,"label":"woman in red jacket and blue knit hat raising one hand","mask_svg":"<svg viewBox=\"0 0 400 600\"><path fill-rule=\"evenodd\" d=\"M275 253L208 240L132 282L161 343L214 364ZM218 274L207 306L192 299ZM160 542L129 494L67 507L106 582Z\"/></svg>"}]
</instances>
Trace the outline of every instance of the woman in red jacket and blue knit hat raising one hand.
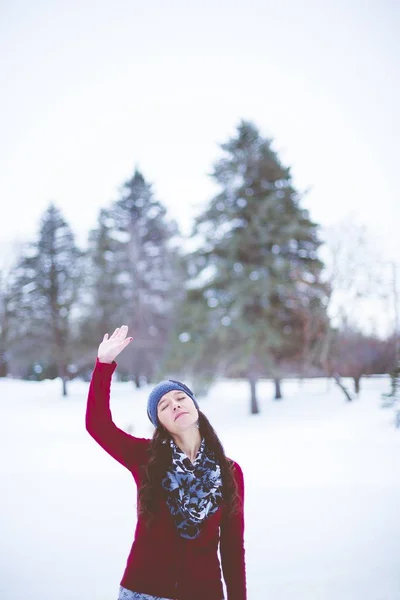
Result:
<instances>
[{"instance_id":1,"label":"woman in red jacket and blue knit hat raising one hand","mask_svg":"<svg viewBox=\"0 0 400 600\"><path fill-rule=\"evenodd\" d=\"M132 473L135 537L118 600L246 600L243 473L228 459L193 392L175 380L149 395L152 439L119 429L110 412L115 358L128 327L106 333L89 387L86 429ZM220 551L221 563L218 557Z\"/></svg>"}]
</instances>

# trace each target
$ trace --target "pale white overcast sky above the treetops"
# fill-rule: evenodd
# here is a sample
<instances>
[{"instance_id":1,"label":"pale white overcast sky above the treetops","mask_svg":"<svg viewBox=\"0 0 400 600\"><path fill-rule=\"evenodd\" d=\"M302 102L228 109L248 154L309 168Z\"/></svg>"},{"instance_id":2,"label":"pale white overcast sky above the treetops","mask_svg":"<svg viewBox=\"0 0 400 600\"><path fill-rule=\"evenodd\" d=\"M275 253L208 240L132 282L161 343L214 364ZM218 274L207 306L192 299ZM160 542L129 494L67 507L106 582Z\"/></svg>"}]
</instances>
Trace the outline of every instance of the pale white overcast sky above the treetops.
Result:
<instances>
[{"instance_id":1,"label":"pale white overcast sky above the treetops","mask_svg":"<svg viewBox=\"0 0 400 600\"><path fill-rule=\"evenodd\" d=\"M245 118L311 189L313 219L351 212L398 260L398 7L3 0L0 241L34 236L53 200L84 243L135 165L188 233Z\"/></svg>"}]
</instances>

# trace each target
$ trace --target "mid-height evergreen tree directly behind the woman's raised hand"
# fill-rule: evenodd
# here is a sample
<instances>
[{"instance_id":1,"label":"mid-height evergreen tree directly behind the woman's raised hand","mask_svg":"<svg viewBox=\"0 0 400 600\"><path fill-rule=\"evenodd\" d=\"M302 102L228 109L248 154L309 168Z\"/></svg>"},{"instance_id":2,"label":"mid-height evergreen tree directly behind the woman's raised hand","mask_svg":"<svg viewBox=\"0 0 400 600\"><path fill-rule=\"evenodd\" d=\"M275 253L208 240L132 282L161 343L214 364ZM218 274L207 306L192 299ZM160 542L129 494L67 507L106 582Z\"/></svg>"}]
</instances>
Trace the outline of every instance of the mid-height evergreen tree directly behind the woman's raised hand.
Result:
<instances>
[{"instance_id":1,"label":"mid-height evergreen tree directly behind the woman's raised hand","mask_svg":"<svg viewBox=\"0 0 400 600\"><path fill-rule=\"evenodd\" d=\"M166 209L137 169L108 217L115 240L110 269L119 295L114 322L128 325L135 340L121 356L121 368L140 386L142 378L151 380L161 368L184 292L183 262L174 246L178 228L167 221Z\"/></svg>"}]
</instances>

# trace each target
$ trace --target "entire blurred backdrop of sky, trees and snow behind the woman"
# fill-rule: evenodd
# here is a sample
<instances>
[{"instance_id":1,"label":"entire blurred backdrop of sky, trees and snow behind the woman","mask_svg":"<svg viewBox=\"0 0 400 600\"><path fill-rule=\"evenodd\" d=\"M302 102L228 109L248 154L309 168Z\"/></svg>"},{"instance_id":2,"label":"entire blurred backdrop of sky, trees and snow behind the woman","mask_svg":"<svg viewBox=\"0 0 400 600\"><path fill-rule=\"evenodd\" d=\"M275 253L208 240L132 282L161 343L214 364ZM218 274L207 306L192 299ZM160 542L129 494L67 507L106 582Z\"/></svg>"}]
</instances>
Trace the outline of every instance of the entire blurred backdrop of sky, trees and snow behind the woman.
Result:
<instances>
[{"instance_id":1,"label":"entire blurred backdrop of sky, trees and snow behind the woman","mask_svg":"<svg viewBox=\"0 0 400 600\"><path fill-rule=\"evenodd\" d=\"M400 598L399 12L1 3L2 597L116 597L135 494L82 429L126 324L113 414L193 387L250 600Z\"/></svg>"}]
</instances>

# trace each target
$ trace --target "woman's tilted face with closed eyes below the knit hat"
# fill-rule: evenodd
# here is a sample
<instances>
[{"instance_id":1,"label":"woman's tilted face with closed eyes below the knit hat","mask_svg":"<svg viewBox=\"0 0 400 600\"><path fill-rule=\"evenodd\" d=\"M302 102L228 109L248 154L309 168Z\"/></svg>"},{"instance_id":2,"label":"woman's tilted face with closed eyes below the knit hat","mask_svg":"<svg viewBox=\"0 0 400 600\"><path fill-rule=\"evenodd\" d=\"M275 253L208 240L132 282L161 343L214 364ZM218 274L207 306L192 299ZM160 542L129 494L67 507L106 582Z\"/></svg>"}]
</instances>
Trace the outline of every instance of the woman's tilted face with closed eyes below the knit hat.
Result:
<instances>
[{"instance_id":1,"label":"woman's tilted face with closed eyes below the knit hat","mask_svg":"<svg viewBox=\"0 0 400 600\"><path fill-rule=\"evenodd\" d=\"M199 413L190 396L180 390L171 390L161 397L157 416L170 433L180 433L197 423Z\"/></svg>"}]
</instances>

